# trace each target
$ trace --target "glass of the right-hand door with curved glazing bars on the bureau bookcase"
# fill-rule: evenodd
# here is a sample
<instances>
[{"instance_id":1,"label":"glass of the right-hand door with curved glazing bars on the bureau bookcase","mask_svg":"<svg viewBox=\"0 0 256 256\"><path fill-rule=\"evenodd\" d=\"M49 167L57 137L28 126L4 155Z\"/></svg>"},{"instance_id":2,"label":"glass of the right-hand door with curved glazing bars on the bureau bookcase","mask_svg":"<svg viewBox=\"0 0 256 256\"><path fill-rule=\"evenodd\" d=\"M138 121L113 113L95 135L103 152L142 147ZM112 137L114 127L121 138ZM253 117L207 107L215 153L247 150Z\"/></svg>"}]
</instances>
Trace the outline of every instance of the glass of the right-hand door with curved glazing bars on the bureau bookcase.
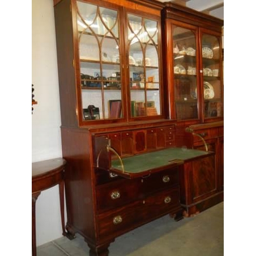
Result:
<instances>
[{"instance_id":1,"label":"glass of the right-hand door with curved glazing bars on the bureau bookcase","mask_svg":"<svg viewBox=\"0 0 256 256\"><path fill-rule=\"evenodd\" d=\"M160 115L158 23L127 15L131 116Z\"/></svg>"}]
</instances>

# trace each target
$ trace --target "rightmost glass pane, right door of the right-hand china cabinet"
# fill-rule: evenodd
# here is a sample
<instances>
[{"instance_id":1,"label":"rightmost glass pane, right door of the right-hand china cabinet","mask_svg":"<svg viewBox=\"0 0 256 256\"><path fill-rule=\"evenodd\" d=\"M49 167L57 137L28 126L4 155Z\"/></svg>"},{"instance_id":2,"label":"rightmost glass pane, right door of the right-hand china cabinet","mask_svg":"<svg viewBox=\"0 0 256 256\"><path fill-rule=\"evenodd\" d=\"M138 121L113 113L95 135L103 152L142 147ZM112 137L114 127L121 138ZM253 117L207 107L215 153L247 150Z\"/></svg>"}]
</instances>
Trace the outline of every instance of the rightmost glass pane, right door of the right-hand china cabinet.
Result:
<instances>
[{"instance_id":1,"label":"rightmost glass pane, right door of the right-hand china cabinet","mask_svg":"<svg viewBox=\"0 0 256 256\"><path fill-rule=\"evenodd\" d=\"M220 77L220 38L202 35L202 65L204 117L222 116L222 86Z\"/></svg>"}]
</instances>

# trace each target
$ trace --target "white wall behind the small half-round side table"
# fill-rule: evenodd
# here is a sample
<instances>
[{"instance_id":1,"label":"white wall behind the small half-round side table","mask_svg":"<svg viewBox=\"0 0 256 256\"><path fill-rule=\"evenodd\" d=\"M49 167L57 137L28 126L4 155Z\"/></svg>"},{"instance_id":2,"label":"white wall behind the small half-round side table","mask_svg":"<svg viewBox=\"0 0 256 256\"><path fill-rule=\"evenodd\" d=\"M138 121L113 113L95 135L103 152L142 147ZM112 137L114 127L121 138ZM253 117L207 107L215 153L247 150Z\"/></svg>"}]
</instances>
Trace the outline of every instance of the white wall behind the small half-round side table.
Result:
<instances>
[{"instance_id":1,"label":"white wall behind the small half-round side table","mask_svg":"<svg viewBox=\"0 0 256 256\"><path fill-rule=\"evenodd\" d=\"M56 55L53 0L32 0L32 83L38 101L32 114L32 162L62 157ZM36 201L37 246L61 236L58 186L54 186Z\"/></svg>"}]
</instances>

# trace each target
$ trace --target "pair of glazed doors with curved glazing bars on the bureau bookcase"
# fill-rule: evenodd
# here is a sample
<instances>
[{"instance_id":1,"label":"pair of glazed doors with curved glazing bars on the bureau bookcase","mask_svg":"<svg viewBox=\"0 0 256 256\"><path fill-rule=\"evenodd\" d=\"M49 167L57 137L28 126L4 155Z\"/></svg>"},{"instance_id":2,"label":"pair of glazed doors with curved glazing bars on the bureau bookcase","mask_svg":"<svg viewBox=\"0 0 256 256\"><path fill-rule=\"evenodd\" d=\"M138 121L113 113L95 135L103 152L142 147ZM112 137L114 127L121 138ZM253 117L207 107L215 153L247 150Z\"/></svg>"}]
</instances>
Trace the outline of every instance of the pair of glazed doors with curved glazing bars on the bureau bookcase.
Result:
<instances>
[{"instance_id":1,"label":"pair of glazed doors with curved glazing bars on the bureau bookcase","mask_svg":"<svg viewBox=\"0 0 256 256\"><path fill-rule=\"evenodd\" d=\"M160 16L75 3L80 123L161 118Z\"/></svg>"}]
</instances>

